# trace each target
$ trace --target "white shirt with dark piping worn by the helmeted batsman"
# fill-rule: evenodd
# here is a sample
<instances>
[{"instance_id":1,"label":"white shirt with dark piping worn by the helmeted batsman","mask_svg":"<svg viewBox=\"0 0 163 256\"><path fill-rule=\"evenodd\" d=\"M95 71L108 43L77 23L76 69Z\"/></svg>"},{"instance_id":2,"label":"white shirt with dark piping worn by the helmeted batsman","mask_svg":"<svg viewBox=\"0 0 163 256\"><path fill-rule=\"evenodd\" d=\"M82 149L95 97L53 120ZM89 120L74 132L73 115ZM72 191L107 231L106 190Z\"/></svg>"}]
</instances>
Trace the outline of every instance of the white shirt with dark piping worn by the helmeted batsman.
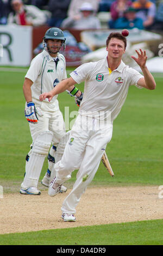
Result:
<instances>
[{"instance_id":1,"label":"white shirt with dark piping worn by the helmeted batsman","mask_svg":"<svg viewBox=\"0 0 163 256\"><path fill-rule=\"evenodd\" d=\"M51 91L54 88L54 82L56 85L56 83L67 78L65 57L58 53L58 58L57 69L53 57L45 50L32 60L25 77L33 81L31 90L34 102L35 100L39 100L40 94ZM57 96L58 95L55 95L51 102L49 102L48 99L46 99L45 102L54 103ZM57 102L58 100L56 103Z\"/></svg>"}]
</instances>

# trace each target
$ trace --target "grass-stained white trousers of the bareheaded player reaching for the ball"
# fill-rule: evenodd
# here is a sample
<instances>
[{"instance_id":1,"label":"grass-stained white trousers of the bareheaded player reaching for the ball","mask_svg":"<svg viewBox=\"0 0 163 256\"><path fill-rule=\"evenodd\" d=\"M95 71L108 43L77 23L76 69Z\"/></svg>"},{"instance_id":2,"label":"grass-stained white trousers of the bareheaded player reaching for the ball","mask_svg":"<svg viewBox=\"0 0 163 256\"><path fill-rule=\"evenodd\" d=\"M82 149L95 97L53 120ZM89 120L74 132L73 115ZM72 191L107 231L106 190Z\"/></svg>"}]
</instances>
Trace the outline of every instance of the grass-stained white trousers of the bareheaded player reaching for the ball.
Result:
<instances>
[{"instance_id":1,"label":"grass-stained white trousers of the bareheaded player reaching for the ball","mask_svg":"<svg viewBox=\"0 0 163 256\"><path fill-rule=\"evenodd\" d=\"M112 137L112 122L97 127L94 118L78 115L72 127L61 161L54 165L56 181L62 184L79 169L72 191L62 203L62 213L76 213L76 206L86 187L94 178L107 143ZM90 199L91 200L91 199Z\"/></svg>"}]
</instances>

